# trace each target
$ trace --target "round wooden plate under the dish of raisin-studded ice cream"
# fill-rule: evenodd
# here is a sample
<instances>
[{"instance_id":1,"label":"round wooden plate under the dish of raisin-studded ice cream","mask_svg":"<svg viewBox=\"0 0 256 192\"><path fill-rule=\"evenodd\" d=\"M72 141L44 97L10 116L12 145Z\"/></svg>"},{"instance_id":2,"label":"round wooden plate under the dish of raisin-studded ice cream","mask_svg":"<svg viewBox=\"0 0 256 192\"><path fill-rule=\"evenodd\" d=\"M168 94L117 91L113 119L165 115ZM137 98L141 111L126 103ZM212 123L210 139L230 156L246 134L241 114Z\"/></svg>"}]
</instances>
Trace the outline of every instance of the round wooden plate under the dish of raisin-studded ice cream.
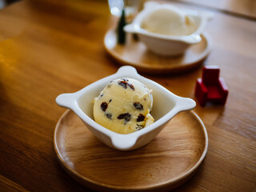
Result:
<instances>
[{"instance_id":1,"label":"round wooden plate under the dish of raisin-studded ice cream","mask_svg":"<svg viewBox=\"0 0 256 192\"><path fill-rule=\"evenodd\" d=\"M54 132L62 167L98 191L166 191L186 182L206 156L206 128L194 112L174 117L146 146L113 150L99 142L73 111L67 110Z\"/></svg>"}]
</instances>

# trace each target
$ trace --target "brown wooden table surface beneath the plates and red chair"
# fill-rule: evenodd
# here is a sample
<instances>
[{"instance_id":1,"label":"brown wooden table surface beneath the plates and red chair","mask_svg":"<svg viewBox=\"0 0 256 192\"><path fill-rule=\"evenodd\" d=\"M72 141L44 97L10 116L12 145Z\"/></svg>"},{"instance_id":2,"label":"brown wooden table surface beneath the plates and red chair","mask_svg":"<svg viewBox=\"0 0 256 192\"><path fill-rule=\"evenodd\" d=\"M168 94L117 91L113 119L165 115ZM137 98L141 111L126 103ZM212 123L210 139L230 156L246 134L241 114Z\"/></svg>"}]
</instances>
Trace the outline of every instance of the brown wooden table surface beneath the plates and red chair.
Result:
<instances>
[{"instance_id":1,"label":"brown wooden table surface beneath the plates and red chair","mask_svg":"<svg viewBox=\"0 0 256 192\"><path fill-rule=\"evenodd\" d=\"M226 106L194 109L209 134L208 153L174 191L256 191L255 1L208 2L174 4L214 13L204 65L220 66L230 94ZM90 191L58 164L54 127L65 109L54 100L118 70L103 46L113 21L106 0L24 0L0 10L0 191ZM196 100L201 74L202 67L142 75Z\"/></svg>"}]
</instances>

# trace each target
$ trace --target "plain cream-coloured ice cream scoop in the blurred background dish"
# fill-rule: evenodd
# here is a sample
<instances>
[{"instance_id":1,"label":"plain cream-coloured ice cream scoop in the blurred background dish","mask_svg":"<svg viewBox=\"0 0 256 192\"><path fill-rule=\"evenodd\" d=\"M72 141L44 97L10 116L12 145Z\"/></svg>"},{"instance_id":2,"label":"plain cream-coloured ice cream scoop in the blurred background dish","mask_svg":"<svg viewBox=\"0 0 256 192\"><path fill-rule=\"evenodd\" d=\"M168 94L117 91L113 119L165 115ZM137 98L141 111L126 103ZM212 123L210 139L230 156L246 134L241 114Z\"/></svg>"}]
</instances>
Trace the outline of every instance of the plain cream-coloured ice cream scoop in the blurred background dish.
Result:
<instances>
[{"instance_id":1,"label":"plain cream-coloured ice cream scoop in the blurred background dish","mask_svg":"<svg viewBox=\"0 0 256 192\"><path fill-rule=\"evenodd\" d=\"M174 6L161 6L142 20L142 29L156 34L189 35L197 28L194 18Z\"/></svg>"}]
</instances>

